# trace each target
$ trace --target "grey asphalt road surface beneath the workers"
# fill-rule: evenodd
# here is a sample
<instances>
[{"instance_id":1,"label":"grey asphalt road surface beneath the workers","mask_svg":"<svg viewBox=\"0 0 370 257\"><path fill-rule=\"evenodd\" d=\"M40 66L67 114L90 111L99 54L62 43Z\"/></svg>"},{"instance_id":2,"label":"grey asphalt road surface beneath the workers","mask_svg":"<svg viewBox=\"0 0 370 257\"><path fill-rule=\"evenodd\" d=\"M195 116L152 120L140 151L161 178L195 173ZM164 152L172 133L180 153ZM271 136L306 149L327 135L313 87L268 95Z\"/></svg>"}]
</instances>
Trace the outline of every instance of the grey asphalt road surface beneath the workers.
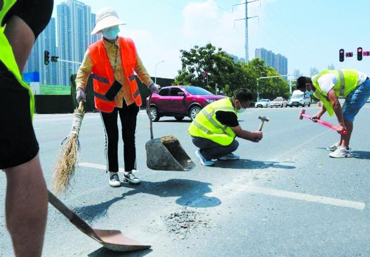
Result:
<instances>
[{"instance_id":1,"label":"grey asphalt road surface beneath the workers","mask_svg":"<svg viewBox=\"0 0 370 257\"><path fill-rule=\"evenodd\" d=\"M306 114L316 114L316 107ZM356 116L354 158L333 159L325 149L339 135L309 120L300 108L248 109L240 125L256 130L270 118L263 139L238 139L240 160L200 165L187 133L190 120L161 118L154 137L174 135L195 162L189 172L150 170L145 142L148 117L138 116L139 186L108 186L104 130L99 114L86 114L80 131L80 166L61 200L97 229L117 229L150 250L115 253L76 229L49 205L43 256L370 256L370 105ZM71 114L35 115L40 159L51 188L60 141ZM335 118L323 119L336 123ZM120 122L119 122L120 123ZM121 138L121 136L120 136ZM120 167L123 143L119 143ZM122 173L120 173L122 174ZM0 256L13 256L5 227L6 179L0 173Z\"/></svg>"}]
</instances>

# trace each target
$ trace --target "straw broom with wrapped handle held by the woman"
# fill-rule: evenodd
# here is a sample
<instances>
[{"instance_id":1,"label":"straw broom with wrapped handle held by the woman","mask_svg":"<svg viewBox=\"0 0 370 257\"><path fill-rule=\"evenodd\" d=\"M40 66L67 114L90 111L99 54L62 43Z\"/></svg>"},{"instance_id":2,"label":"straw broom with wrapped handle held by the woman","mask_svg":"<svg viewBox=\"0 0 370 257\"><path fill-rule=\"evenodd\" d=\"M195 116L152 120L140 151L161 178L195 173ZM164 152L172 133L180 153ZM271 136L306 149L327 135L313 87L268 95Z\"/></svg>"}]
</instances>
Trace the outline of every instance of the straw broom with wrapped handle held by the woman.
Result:
<instances>
[{"instance_id":1,"label":"straw broom with wrapped handle held by the woman","mask_svg":"<svg viewBox=\"0 0 370 257\"><path fill-rule=\"evenodd\" d=\"M56 158L53 175L53 189L57 194L65 192L67 187L70 185L70 179L74 174L74 169L78 160L78 150L80 149L78 133L80 132L84 114L85 110L83 100L81 100L73 113L71 133L61 142L61 145L63 146Z\"/></svg>"}]
</instances>

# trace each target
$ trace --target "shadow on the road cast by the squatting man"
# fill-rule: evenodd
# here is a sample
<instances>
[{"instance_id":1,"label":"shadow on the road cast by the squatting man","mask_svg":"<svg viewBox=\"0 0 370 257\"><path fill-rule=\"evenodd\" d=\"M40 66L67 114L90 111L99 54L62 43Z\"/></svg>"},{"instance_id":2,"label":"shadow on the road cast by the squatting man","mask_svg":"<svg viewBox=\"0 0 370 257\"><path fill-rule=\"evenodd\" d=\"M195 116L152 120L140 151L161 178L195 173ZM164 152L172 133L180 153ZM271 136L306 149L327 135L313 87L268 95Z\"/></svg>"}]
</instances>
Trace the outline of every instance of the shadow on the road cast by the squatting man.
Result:
<instances>
[{"instance_id":1,"label":"shadow on the road cast by the squatting man","mask_svg":"<svg viewBox=\"0 0 370 257\"><path fill-rule=\"evenodd\" d=\"M213 165L218 168L227 169L295 169L295 166L281 165L280 162L261 162L259 160L239 159L239 160L218 160Z\"/></svg>"}]
</instances>

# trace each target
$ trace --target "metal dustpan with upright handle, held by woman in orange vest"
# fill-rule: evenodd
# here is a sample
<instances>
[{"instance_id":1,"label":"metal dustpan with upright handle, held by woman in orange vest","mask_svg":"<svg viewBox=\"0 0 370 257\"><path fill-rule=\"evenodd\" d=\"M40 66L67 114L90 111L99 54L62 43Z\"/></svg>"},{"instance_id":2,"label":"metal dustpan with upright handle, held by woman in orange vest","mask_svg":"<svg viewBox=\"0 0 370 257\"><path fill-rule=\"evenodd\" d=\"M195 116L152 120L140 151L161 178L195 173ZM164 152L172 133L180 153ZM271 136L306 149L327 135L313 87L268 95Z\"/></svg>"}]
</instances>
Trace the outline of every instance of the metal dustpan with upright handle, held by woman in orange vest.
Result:
<instances>
[{"instance_id":1,"label":"metal dustpan with upright handle, held by woman in orange vest","mask_svg":"<svg viewBox=\"0 0 370 257\"><path fill-rule=\"evenodd\" d=\"M150 122L150 139L145 144L147 151L147 166L153 170L188 171L195 167L194 162L181 147L180 142L174 136L163 136L154 138L153 124L150 113L152 94L149 95L147 106Z\"/></svg>"}]
</instances>

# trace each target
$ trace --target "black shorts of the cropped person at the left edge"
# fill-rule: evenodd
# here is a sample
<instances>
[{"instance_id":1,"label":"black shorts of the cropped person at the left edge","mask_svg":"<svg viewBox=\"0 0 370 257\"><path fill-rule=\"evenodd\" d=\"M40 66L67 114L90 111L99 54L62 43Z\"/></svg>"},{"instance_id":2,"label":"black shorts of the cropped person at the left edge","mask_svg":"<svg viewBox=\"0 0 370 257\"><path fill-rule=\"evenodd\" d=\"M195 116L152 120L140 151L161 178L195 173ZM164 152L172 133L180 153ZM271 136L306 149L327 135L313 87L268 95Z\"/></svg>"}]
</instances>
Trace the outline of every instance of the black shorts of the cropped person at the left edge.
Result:
<instances>
[{"instance_id":1,"label":"black shorts of the cropped person at the left edge","mask_svg":"<svg viewBox=\"0 0 370 257\"><path fill-rule=\"evenodd\" d=\"M0 61L0 170L24 164L37 153L28 89Z\"/></svg>"}]
</instances>

